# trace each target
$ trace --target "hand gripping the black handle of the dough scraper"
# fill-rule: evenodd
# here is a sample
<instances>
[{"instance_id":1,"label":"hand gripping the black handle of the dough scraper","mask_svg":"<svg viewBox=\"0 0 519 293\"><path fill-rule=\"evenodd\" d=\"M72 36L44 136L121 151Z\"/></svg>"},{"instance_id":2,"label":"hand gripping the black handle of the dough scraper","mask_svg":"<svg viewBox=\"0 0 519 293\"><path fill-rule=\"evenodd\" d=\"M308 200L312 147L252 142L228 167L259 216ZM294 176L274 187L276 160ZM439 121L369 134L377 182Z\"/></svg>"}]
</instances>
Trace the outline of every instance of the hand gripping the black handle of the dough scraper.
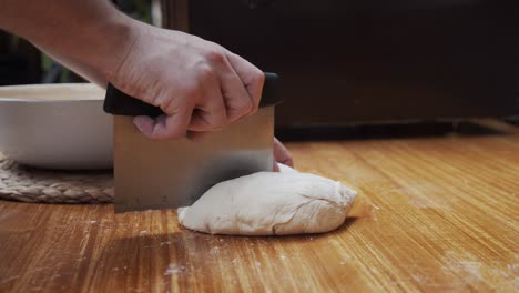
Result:
<instances>
[{"instance_id":1,"label":"hand gripping the black handle of the dough scraper","mask_svg":"<svg viewBox=\"0 0 519 293\"><path fill-rule=\"evenodd\" d=\"M165 115L134 118L151 139L216 131L254 113L263 72L226 50L180 31L133 23L133 41L109 81Z\"/></svg>"}]
</instances>

